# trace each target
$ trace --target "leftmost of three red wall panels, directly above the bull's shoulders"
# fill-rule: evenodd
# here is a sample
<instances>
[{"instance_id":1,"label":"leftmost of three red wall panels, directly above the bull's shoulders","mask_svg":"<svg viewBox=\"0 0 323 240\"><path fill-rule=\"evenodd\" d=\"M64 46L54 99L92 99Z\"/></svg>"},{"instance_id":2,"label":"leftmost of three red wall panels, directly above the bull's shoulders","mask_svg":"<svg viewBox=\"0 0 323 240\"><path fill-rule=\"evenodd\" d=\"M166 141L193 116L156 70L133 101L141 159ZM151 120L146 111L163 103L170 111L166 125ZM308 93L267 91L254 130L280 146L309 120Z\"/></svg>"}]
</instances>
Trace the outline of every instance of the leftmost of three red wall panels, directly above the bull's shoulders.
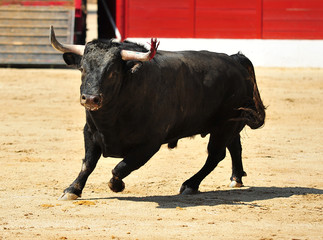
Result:
<instances>
[{"instance_id":1,"label":"leftmost of three red wall panels, directly above the bull's shoulders","mask_svg":"<svg viewBox=\"0 0 323 240\"><path fill-rule=\"evenodd\" d=\"M194 0L128 0L127 37L193 37Z\"/></svg>"}]
</instances>

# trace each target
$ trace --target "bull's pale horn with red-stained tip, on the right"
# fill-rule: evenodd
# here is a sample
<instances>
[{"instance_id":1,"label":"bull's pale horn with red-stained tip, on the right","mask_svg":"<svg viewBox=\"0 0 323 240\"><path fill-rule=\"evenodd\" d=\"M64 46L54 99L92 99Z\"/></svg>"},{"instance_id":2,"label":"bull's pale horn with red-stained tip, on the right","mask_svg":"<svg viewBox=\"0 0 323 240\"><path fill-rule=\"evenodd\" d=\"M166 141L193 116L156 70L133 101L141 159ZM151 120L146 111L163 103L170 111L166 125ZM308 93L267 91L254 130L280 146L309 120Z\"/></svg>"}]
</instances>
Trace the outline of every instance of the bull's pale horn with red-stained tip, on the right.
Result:
<instances>
[{"instance_id":1,"label":"bull's pale horn with red-stained tip, on the right","mask_svg":"<svg viewBox=\"0 0 323 240\"><path fill-rule=\"evenodd\" d=\"M123 60L137 60L141 62L146 62L148 60L153 59L156 54L157 48L159 46L159 42L157 39L151 39L150 50L148 52L135 52L129 50L121 50L121 57Z\"/></svg>"}]
</instances>

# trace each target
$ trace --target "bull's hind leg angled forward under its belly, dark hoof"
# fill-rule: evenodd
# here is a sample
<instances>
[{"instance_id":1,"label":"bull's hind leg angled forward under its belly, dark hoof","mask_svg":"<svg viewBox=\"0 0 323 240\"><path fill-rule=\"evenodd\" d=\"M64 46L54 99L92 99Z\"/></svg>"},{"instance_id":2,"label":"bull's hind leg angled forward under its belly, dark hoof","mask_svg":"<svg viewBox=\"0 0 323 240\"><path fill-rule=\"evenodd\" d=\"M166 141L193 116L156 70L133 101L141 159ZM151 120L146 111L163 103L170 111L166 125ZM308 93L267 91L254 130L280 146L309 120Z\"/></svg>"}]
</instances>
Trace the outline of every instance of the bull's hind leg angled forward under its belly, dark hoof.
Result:
<instances>
[{"instance_id":1,"label":"bull's hind leg angled forward under its belly, dark hoof","mask_svg":"<svg viewBox=\"0 0 323 240\"><path fill-rule=\"evenodd\" d=\"M198 173L183 183L180 189L181 194L197 193L202 180L225 158L226 147L225 141L223 140L224 139L216 134L210 134L210 140L207 147L209 155L206 163Z\"/></svg>"}]
</instances>

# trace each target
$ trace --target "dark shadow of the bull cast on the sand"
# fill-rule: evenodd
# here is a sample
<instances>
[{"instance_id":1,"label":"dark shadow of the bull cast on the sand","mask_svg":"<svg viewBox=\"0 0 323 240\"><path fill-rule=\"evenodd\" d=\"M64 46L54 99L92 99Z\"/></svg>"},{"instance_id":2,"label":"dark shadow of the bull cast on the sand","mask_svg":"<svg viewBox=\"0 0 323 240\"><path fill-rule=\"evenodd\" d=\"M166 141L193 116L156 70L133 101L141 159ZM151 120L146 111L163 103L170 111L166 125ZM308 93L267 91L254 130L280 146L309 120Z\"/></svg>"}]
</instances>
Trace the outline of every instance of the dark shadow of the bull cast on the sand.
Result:
<instances>
[{"instance_id":1,"label":"dark shadow of the bull cast on the sand","mask_svg":"<svg viewBox=\"0 0 323 240\"><path fill-rule=\"evenodd\" d=\"M155 202L157 208L187 208L194 206L217 206L222 204L253 205L254 201L287 198L293 195L323 194L323 190L304 187L244 187L240 189L201 192L196 195L167 195L147 197L109 197L121 201ZM93 200L93 199L92 199Z\"/></svg>"}]
</instances>

